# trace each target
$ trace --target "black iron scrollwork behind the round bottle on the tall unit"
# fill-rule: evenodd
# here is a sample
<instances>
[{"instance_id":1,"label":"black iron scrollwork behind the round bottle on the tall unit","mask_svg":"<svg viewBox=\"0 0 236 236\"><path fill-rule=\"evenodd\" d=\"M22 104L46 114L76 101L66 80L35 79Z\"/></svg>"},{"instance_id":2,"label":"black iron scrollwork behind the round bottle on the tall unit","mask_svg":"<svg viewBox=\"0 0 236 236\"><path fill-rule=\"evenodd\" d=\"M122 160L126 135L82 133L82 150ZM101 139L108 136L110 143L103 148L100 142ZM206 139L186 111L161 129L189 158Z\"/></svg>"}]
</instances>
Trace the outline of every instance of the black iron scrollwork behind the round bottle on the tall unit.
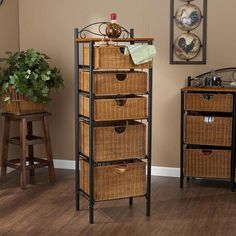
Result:
<instances>
[{"instance_id":1,"label":"black iron scrollwork behind the round bottle on the tall unit","mask_svg":"<svg viewBox=\"0 0 236 236\"><path fill-rule=\"evenodd\" d=\"M84 39L84 38L87 38L87 34L96 35L100 37L106 37L105 30L106 30L106 26L109 23L110 22L101 21L101 22L95 22L95 23L89 24L78 32L78 37ZM95 27L97 26L97 29L95 29L95 31L93 30L94 26ZM126 28L122 26L120 27L121 27L121 35L123 38L131 37L131 33Z\"/></svg>"}]
</instances>

